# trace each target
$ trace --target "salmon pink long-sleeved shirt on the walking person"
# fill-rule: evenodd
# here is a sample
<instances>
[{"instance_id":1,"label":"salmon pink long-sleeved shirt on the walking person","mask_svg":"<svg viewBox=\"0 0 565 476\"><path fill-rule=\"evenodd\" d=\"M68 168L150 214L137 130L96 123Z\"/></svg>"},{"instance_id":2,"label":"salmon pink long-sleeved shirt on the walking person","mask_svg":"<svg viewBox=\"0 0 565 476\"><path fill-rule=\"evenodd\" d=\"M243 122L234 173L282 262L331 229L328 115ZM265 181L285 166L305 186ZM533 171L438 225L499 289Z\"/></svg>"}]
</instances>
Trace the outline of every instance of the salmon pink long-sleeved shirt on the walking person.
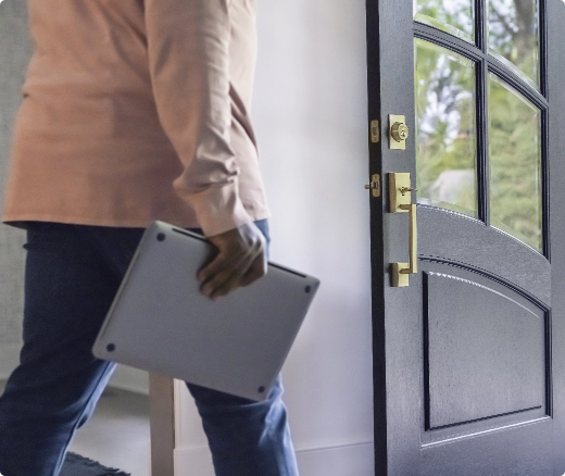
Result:
<instances>
[{"instance_id":1,"label":"salmon pink long-sleeved shirt on the walking person","mask_svg":"<svg viewBox=\"0 0 565 476\"><path fill-rule=\"evenodd\" d=\"M249 110L254 0L27 0L3 221L209 236L268 216Z\"/></svg>"}]
</instances>

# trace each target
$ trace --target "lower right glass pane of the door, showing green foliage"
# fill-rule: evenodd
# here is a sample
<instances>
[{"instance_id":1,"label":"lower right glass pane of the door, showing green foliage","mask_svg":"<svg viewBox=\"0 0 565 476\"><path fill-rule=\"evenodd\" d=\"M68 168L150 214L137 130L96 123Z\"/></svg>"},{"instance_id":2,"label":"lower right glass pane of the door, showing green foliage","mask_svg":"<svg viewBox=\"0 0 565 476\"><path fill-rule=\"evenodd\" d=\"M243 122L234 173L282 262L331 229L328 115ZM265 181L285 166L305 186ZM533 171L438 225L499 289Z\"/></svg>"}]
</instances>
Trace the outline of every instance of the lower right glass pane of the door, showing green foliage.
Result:
<instances>
[{"instance_id":1,"label":"lower right glass pane of the door, showing green foliage","mask_svg":"<svg viewBox=\"0 0 565 476\"><path fill-rule=\"evenodd\" d=\"M542 251L541 111L489 74L491 224Z\"/></svg>"}]
</instances>

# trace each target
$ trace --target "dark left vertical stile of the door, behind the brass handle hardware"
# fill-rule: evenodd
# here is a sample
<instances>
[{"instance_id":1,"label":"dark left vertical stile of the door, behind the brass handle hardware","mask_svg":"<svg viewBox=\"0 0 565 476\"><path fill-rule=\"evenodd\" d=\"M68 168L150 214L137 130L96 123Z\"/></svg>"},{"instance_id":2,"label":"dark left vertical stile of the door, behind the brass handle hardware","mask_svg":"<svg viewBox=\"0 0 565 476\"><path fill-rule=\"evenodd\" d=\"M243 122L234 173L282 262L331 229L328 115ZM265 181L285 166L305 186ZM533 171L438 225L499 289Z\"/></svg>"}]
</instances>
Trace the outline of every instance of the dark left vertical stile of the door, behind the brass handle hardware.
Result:
<instances>
[{"instance_id":1,"label":"dark left vertical stile of the door, behind the brass handle hardware","mask_svg":"<svg viewBox=\"0 0 565 476\"><path fill-rule=\"evenodd\" d=\"M416 184L412 2L367 0L366 11L368 113L380 125L369 172L380 175L382 189L371 198L375 474L416 476L423 386L418 276L410 275L409 287L391 287L390 263L409 261L409 214L388 213L388 174L407 172L411 186ZM405 116L405 150L389 148L389 114Z\"/></svg>"}]
</instances>

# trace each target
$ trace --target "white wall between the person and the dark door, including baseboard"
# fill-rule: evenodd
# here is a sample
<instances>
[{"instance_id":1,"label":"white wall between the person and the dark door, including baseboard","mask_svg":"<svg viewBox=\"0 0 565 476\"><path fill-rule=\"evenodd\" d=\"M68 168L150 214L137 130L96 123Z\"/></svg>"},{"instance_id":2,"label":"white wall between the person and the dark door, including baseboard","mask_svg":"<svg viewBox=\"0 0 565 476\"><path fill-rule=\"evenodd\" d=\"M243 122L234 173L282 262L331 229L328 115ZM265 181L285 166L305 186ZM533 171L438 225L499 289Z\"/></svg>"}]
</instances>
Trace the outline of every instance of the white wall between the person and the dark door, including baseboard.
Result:
<instances>
[{"instance_id":1,"label":"white wall between the person and the dark door, including baseboard","mask_svg":"<svg viewBox=\"0 0 565 476\"><path fill-rule=\"evenodd\" d=\"M373 476L365 17L362 0L260 0L253 118L272 260L322 279L284 368L302 476ZM212 476L177 386L175 476Z\"/></svg>"}]
</instances>

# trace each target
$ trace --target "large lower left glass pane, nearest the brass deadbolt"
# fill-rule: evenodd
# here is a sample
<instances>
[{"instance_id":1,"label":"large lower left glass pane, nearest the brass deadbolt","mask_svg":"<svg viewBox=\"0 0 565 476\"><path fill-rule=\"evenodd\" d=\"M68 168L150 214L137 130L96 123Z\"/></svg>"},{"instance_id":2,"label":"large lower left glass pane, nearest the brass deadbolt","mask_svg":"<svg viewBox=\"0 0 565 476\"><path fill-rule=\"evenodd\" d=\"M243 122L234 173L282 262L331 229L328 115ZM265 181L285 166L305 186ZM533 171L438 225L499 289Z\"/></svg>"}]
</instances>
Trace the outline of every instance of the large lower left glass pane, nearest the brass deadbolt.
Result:
<instances>
[{"instance_id":1,"label":"large lower left glass pane, nearest the brass deadbolt","mask_svg":"<svg viewBox=\"0 0 565 476\"><path fill-rule=\"evenodd\" d=\"M418 203L477 216L475 64L415 39Z\"/></svg>"}]
</instances>

